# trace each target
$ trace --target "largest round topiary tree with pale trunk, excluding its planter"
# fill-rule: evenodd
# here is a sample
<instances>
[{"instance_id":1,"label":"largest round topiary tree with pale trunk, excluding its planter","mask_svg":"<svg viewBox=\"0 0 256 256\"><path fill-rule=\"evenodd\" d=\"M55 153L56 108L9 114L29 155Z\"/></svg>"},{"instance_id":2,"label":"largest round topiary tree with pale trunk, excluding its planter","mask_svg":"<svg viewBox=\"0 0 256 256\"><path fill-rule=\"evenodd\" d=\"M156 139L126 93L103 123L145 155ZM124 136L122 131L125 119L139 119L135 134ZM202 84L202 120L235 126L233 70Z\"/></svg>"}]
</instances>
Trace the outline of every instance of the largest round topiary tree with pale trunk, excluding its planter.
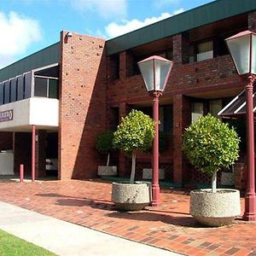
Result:
<instances>
[{"instance_id":1,"label":"largest round topiary tree with pale trunk, excluding its planter","mask_svg":"<svg viewBox=\"0 0 256 256\"><path fill-rule=\"evenodd\" d=\"M192 123L183 134L183 151L191 164L212 175L212 192L217 191L217 172L238 159L240 138L236 131L211 114Z\"/></svg>"}]
</instances>

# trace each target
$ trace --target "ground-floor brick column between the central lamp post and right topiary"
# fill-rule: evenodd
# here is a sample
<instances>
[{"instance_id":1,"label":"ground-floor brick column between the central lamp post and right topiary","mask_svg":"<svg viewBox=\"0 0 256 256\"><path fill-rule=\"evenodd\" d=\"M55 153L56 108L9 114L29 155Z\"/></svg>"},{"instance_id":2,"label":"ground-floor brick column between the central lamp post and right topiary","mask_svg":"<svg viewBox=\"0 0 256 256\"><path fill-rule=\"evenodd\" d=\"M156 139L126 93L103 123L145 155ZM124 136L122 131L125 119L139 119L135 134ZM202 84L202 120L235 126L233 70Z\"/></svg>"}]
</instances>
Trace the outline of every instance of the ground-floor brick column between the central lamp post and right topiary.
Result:
<instances>
[{"instance_id":1,"label":"ground-floor brick column between the central lamp post and right topiary","mask_svg":"<svg viewBox=\"0 0 256 256\"><path fill-rule=\"evenodd\" d=\"M182 143L183 131L190 123L189 100L182 95L173 97L173 182L183 183L185 162L183 158Z\"/></svg>"}]
</instances>

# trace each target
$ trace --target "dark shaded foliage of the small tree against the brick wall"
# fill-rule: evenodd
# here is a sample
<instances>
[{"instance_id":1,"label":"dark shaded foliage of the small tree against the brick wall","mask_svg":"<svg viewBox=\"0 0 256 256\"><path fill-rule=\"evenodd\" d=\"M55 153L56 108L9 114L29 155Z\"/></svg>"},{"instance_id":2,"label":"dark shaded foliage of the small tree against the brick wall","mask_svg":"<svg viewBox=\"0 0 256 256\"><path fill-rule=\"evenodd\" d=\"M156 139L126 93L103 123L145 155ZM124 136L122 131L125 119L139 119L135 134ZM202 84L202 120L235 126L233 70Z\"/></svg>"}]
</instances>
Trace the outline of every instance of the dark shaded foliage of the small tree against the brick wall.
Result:
<instances>
[{"instance_id":1,"label":"dark shaded foliage of the small tree against the brick wall","mask_svg":"<svg viewBox=\"0 0 256 256\"><path fill-rule=\"evenodd\" d=\"M103 131L96 138L96 149L102 154L113 150L113 131Z\"/></svg>"}]
</instances>

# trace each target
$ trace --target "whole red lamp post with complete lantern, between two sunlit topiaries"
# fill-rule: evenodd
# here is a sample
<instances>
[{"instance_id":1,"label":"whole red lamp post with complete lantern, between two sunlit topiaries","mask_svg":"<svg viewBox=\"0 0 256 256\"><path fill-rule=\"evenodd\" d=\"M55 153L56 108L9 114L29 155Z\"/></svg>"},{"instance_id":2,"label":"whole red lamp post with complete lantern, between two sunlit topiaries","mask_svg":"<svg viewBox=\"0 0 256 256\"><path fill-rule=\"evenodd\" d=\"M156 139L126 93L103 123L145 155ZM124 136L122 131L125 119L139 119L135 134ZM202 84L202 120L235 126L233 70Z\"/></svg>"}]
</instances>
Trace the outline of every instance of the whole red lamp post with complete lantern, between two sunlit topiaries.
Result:
<instances>
[{"instance_id":1,"label":"whole red lamp post with complete lantern, between two sunlit topiaries","mask_svg":"<svg viewBox=\"0 0 256 256\"><path fill-rule=\"evenodd\" d=\"M153 96L154 143L153 143L153 177L152 177L152 202L153 207L160 205L159 186L159 97L166 88L167 79L172 70L173 62L160 56L151 56L139 61L138 67L143 75L143 80L148 93Z\"/></svg>"}]
</instances>

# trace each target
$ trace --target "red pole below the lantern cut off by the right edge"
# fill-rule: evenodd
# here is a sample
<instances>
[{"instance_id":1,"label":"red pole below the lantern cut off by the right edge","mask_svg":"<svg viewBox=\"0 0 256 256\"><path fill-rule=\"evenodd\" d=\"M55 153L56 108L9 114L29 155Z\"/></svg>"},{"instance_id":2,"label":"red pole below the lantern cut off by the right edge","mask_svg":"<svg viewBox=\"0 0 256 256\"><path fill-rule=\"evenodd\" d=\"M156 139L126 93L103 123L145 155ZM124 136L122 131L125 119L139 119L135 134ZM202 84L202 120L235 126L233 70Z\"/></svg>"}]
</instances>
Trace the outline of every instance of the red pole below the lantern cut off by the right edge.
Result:
<instances>
[{"instance_id":1,"label":"red pole below the lantern cut off by the right edge","mask_svg":"<svg viewBox=\"0 0 256 256\"><path fill-rule=\"evenodd\" d=\"M254 173L254 122L253 122L253 82L256 76L250 76L246 86L247 95L247 195L243 219L256 220L256 196Z\"/></svg>"}]
</instances>

